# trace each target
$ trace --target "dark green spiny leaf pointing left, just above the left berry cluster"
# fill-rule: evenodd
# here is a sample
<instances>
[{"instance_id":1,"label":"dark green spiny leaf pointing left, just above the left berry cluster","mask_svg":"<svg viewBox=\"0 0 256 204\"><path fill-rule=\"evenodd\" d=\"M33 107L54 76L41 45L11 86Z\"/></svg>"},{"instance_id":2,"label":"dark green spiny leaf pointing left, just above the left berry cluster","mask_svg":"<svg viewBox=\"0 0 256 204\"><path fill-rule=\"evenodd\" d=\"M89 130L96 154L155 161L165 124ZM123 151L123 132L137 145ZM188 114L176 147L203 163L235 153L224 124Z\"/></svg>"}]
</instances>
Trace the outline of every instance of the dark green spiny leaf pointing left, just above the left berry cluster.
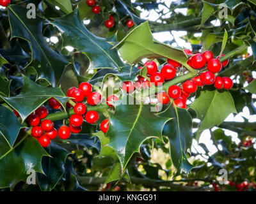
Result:
<instances>
[{"instance_id":1,"label":"dark green spiny leaf pointing left, just above the left berry cluster","mask_svg":"<svg viewBox=\"0 0 256 204\"><path fill-rule=\"evenodd\" d=\"M67 102L68 98L65 97L60 87L42 87L25 75L22 75L22 77L24 86L19 95L10 98L0 96L8 105L17 110L22 122L30 113L34 112L36 108L52 97L60 101L63 108L65 108L63 103L64 101Z\"/></svg>"}]
</instances>

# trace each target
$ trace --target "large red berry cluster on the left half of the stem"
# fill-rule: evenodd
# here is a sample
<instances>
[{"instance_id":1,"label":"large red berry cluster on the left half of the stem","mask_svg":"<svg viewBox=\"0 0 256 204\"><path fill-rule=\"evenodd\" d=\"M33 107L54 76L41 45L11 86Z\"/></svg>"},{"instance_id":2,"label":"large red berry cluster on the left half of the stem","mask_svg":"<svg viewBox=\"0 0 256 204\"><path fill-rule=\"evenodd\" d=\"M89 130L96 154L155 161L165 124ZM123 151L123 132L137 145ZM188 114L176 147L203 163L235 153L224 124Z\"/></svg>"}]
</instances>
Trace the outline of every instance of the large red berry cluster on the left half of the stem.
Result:
<instances>
[{"instance_id":1,"label":"large red berry cluster on the left half of the stem","mask_svg":"<svg viewBox=\"0 0 256 204\"><path fill-rule=\"evenodd\" d=\"M69 118L69 126L63 124L58 131L54 128L52 120L47 119L48 110L45 106L40 106L28 116L28 124L33 127L31 129L31 135L34 136L42 147L48 147L51 140L59 136L63 140L67 140L71 133L80 133L82 130L83 121L86 120L89 124L95 124L99 120L99 113L95 110L87 111L86 103L90 106L99 105L101 102L101 95L99 92L92 91L92 85L88 82L82 82L78 89L71 87L67 91L67 96L74 101L74 114ZM86 103L84 99L86 98ZM118 101L118 97L115 95L108 96L106 103L109 107L113 107L111 104L113 101ZM61 104L54 98L48 100L48 104L54 110L61 110ZM67 102L67 109L73 108L70 103ZM19 117L19 113L13 110L13 113ZM105 119L100 123L100 130L107 133L109 128L109 120Z\"/></svg>"}]
</instances>

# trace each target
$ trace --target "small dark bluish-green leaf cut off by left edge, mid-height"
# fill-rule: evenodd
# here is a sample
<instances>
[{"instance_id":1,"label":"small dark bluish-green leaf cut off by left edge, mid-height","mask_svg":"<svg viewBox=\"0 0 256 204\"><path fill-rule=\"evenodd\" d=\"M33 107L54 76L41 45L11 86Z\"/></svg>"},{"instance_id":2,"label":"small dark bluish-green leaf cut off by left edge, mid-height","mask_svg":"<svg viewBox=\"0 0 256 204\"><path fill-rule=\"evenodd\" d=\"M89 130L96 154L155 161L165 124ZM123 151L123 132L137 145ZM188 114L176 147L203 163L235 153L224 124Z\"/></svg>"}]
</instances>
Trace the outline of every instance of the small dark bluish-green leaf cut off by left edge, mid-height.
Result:
<instances>
[{"instance_id":1,"label":"small dark bluish-green leaf cut off by left edge, mid-height","mask_svg":"<svg viewBox=\"0 0 256 204\"><path fill-rule=\"evenodd\" d=\"M0 106L0 133L8 142L10 148L13 147L21 127L13 112L4 106Z\"/></svg>"}]
</instances>

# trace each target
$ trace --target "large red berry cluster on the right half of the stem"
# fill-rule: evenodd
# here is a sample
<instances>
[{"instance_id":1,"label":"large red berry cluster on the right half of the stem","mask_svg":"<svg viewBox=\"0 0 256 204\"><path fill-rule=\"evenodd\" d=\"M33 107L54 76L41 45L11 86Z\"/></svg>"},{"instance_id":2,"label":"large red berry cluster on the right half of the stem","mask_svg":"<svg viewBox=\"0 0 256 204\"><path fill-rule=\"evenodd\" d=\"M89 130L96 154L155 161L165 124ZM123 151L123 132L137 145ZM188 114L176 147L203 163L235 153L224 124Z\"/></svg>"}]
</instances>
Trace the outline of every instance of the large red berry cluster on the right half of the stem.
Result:
<instances>
[{"instance_id":1,"label":"large red berry cluster on the right half of the stem","mask_svg":"<svg viewBox=\"0 0 256 204\"><path fill-rule=\"evenodd\" d=\"M190 50L184 50L187 55L192 55ZM188 64L194 69L202 69L207 64L207 71L204 71L199 76L184 82L182 85L171 85L168 89L168 93L161 92L158 94L157 99L159 103L168 104L170 98L173 99L173 103L180 108L186 108L186 101L190 94L196 92L198 87L204 85L214 85L216 89L231 89L233 82L228 77L216 77L214 73L221 70L222 67L227 66L228 60L220 62L219 57L214 59L214 55L211 51L205 51L203 54L196 54L189 58ZM144 77L138 76L138 81L124 82L122 88L131 93L135 88L150 87L151 84L155 86L163 85L164 82L172 80L177 73L177 68L180 68L181 64L172 59L168 59L168 64L164 65L161 71L157 71L157 64L154 61L145 62L144 66L147 67L147 76L150 77L150 82ZM142 67L139 67L141 69ZM169 98L170 97L170 98Z\"/></svg>"}]
</instances>

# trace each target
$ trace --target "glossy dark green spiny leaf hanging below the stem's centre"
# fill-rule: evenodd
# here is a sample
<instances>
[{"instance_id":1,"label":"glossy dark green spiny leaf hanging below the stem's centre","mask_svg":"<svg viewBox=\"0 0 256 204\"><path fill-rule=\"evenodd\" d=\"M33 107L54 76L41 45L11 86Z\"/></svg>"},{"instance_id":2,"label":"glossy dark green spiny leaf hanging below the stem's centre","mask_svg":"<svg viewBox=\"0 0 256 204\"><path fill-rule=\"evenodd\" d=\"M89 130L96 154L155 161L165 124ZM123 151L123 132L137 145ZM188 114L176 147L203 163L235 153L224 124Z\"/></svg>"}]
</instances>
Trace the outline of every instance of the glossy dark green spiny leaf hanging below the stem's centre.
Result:
<instances>
[{"instance_id":1,"label":"glossy dark green spiny leaf hanging below the stem's centre","mask_svg":"<svg viewBox=\"0 0 256 204\"><path fill-rule=\"evenodd\" d=\"M128 100L114 103L115 113L109 112L110 122L106 133L109 138L108 146L115 150L123 170L132 155L140 152L140 145L145 140L149 138L163 140L164 124L170 120L151 112L151 105L143 105L131 96L127 99L130 104L134 101L134 105L124 103Z\"/></svg>"}]
</instances>

